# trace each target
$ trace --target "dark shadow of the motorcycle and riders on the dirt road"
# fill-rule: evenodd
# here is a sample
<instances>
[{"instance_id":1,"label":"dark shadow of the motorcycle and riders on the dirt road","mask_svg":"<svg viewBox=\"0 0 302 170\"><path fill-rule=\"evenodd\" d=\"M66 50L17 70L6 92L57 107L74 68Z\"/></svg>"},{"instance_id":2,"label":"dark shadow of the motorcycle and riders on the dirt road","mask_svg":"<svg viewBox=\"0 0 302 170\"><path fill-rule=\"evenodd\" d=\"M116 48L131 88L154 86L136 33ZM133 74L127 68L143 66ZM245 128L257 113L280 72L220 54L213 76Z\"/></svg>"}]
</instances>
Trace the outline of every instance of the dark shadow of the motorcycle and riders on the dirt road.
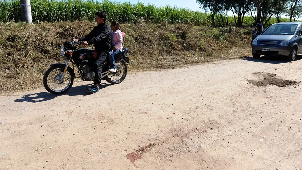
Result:
<instances>
[{"instance_id":1,"label":"dark shadow of the motorcycle and riders on the dirt road","mask_svg":"<svg viewBox=\"0 0 302 170\"><path fill-rule=\"evenodd\" d=\"M16 99L15 102L31 102L31 103L38 103L38 102L44 102L44 101L48 101L48 100L52 100L58 96L64 96L64 95L68 95L68 96L87 96L87 95L91 95L92 93L87 91L87 88L89 87L89 85L92 84L86 84L86 85L81 85L81 86L76 86L76 87L71 87L68 92L64 93L64 94L59 94L59 95L55 95L55 94L51 94L49 92L40 92L40 93L33 93L33 94L27 94L21 97L21 99ZM110 86L111 84L105 84L102 83L99 85L100 87L100 91L103 88L106 88L107 86Z\"/></svg>"}]
</instances>

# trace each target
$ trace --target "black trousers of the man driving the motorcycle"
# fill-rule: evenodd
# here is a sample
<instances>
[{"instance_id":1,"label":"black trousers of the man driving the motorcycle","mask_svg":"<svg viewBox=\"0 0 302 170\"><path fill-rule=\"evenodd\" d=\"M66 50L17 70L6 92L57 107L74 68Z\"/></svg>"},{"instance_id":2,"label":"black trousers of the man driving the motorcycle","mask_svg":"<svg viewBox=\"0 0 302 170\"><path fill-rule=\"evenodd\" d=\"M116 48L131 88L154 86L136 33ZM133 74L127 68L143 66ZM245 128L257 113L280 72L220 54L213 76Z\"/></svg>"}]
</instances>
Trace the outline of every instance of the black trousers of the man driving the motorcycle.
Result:
<instances>
[{"instance_id":1,"label":"black trousers of the man driving the motorcycle","mask_svg":"<svg viewBox=\"0 0 302 170\"><path fill-rule=\"evenodd\" d=\"M94 65L94 83L95 84L101 83L102 69L104 67L104 63L108 56L108 53L101 52L101 54L97 55L97 59L95 61L95 65Z\"/></svg>"}]
</instances>

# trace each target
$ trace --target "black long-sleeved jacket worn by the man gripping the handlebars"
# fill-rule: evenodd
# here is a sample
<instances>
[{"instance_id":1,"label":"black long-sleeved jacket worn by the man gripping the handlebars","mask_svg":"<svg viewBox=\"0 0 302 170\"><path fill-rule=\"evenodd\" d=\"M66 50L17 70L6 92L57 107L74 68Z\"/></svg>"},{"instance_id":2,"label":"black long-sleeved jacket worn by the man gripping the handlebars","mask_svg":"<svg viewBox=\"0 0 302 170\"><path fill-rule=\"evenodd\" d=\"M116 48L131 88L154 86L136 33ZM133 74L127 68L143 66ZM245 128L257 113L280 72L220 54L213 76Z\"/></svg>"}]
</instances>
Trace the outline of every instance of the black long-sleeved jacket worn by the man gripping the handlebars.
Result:
<instances>
[{"instance_id":1,"label":"black long-sleeved jacket worn by the man gripping the handlebars","mask_svg":"<svg viewBox=\"0 0 302 170\"><path fill-rule=\"evenodd\" d=\"M87 41L89 45L94 44L97 53L109 53L111 49L111 28L106 22L99 24L86 36L79 38L78 41Z\"/></svg>"}]
</instances>

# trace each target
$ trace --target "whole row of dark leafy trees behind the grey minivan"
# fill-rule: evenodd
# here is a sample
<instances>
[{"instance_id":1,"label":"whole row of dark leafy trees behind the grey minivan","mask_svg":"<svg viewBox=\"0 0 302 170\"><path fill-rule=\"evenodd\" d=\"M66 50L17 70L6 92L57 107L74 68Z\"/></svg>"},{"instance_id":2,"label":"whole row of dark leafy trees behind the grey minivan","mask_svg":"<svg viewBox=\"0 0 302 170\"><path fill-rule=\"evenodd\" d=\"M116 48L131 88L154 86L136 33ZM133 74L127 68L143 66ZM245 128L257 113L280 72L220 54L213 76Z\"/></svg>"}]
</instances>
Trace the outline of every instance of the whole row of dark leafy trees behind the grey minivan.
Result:
<instances>
[{"instance_id":1,"label":"whole row of dark leafy trees behind the grey minivan","mask_svg":"<svg viewBox=\"0 0 302 170\"><path fill-rule=\"evenodd\" d=\"M256 23L266 26L272 17L281 22L282 16L298 21L302 17L302 0L196 0L201 8L209 10L212 25L219 25L215 17L223 16L227 11L232 12L236 26L243 26L244 17L252 16Z\"/></svg>"}]
</instances>

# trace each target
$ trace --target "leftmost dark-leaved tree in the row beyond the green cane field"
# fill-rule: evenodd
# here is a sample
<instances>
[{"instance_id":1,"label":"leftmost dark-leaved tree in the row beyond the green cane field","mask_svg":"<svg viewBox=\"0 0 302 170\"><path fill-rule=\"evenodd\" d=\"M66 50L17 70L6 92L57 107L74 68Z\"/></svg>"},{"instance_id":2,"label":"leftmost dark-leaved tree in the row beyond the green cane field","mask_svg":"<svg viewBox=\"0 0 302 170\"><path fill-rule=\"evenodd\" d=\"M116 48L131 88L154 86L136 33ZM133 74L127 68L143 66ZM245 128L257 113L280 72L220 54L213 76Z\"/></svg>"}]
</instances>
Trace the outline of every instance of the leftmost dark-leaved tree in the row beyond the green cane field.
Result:
<instances>
[{"instance_id":1,"label":"leftmost dark-leaved tree in the row beyond the green cane field","mask_svg":"<svg viewBox=\"0 0 302 170\"><path fill-rule=\"evenodd\" d=\"M215 15L225 8L224 0L196 0L196 2L200 4L202 8L210 10L212 25L214 26Z\"/></svg>"}]
</instances>

